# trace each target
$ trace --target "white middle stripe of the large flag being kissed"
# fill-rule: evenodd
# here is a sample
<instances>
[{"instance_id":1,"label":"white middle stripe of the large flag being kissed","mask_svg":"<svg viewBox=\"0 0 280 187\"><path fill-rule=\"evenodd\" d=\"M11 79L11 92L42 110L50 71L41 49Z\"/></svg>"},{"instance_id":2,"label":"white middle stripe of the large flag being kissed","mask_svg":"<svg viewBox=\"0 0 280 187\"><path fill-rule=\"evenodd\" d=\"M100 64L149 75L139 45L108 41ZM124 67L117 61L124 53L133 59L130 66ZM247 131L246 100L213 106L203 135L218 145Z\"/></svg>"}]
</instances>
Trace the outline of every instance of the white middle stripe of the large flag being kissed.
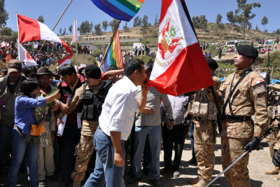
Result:
<instances>
[{"instance_id":1,"label":"white middle stripe of the large flag being kissed","mask_svg":"<svg viewBox=\"0 0 280 187\"><path fill-rule=\"evenodd\" d=\"M158 37L158 43L161 43L162 30L165 28L169 19L170 23L168 32L170 33L170 29L174 27L174 29L176 30L176 34L172 36L172 39L180 39L177 42L179 45L176 46L175 50L171 55L165 54L165 56L167 57L165 58L165 60L162 59L162 55L160 54L160 48L158 48L157 57L151 74L151 80L158 78L158 76L165 72L172 64L172 62L174 62L176 57L181 53L183 48L186 48L187 46L193 45L194 43L198 42L195 33L193 32L193 29L190 26L190 22L188 22L186 13L183 10L181 0L174 0L172 4L170 4L165 18L160 23L160 35ZM161 66L159 64L161 64Z\"/></svg>"}]
</instances>

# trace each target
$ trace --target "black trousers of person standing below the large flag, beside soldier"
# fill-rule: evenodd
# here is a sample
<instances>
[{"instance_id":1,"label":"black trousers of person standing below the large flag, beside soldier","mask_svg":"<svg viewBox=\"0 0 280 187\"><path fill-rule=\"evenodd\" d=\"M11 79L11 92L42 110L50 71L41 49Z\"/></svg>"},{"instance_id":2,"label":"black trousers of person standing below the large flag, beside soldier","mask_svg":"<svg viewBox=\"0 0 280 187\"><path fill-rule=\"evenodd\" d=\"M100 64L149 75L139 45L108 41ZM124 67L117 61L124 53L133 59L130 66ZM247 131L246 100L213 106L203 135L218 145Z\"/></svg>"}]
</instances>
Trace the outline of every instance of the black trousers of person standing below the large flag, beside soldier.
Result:
<instances>
[{"instance_id":1,"label":"black trousers of person standing below the large flag, beside soldier","mask_svg":"<svg viewBox=\"0 0 280 187\"><path fill-rule=\"evenodd\" d=\"M164 161L165 169L178 171L185 144L185 126L174 125L172 130L167 129L167 123L163 127L163 150L165 151ZM175 155L172 165L172 149L174 147Z\"/></svg>"}]
</instances>

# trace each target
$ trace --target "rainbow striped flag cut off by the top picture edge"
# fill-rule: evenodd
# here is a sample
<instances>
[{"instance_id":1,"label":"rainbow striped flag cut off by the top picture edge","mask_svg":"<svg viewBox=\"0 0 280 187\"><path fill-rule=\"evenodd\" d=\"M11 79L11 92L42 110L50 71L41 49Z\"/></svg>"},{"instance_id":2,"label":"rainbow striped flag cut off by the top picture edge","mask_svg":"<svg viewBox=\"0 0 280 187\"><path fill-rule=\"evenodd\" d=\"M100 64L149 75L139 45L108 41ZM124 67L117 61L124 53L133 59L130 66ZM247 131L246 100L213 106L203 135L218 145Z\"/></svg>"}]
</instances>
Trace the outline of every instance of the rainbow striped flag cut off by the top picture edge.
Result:
<instances>
[{"instance_id":1,"label":"rainbow striped flag cut off by the top picture edge","mask_svg":"<svg viewBox=\"0 0 280 187\"><path fill-rule=\"evenodd\" d=\"M138 13L145 0L92 0L105 13L117 20L129 22Z\"/></svg>"}]
</instances>

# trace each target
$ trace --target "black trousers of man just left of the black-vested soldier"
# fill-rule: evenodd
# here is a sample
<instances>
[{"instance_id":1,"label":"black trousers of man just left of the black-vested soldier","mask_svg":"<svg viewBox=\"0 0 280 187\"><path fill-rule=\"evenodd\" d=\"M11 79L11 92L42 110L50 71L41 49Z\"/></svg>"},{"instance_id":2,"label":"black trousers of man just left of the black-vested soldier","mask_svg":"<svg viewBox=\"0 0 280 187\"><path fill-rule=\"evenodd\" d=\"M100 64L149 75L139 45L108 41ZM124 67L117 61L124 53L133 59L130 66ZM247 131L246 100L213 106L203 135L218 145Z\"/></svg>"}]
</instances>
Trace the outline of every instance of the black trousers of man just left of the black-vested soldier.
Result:
<instances>
[{"instance_id":1,"label":"black trousers of man just left of the black-vested soldier","mask_svg":"<svg viewBox=\"0 0 280 187\"><path fill-rule=\"evenodd\" d=\"M62 180L71 179L72 158L75 147L80 141L80 130L81 129L78 129L78 125L73 124L66 124L64 127L62 135L62 153L60 155L62 167L60 174L62 176Z\"/></svg>"}]
</instances>

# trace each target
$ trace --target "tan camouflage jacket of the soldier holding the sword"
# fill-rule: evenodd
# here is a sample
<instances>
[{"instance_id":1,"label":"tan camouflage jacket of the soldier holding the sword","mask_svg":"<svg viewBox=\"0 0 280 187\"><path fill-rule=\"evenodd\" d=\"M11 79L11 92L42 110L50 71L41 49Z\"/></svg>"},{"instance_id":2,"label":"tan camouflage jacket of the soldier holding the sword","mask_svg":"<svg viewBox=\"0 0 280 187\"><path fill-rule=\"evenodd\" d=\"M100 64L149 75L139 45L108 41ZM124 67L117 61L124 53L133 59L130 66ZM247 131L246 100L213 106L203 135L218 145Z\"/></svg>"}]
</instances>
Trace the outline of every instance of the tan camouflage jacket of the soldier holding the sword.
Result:
<instances>
[{"instance_id":1,"label":"tan camouflage jacket of the soldier holding the sword","mask_svg":"<svg viewBox=\"0 0 280 187\"><path fill-rule=\"evenodd\" d=\"M228 99L233 77L235 76L232 89L235 88L239 78L245 74L248 69L251 69L251 67L237 70L235 73L225 78L220 90L218 90L218 100L221 104L224 104ZM254 71L247 74L239 83L235 92L233 92L230 103L235 116L253 116L255 114L255 125L253 125L251 120L246 120L244 122L224 120L221 135L235 138L262 137L268 125L266 98L267 91L262 76ZM226 106L225 113L223 114L231 116L229 105Z\"/></svg>"}]
</instances>

